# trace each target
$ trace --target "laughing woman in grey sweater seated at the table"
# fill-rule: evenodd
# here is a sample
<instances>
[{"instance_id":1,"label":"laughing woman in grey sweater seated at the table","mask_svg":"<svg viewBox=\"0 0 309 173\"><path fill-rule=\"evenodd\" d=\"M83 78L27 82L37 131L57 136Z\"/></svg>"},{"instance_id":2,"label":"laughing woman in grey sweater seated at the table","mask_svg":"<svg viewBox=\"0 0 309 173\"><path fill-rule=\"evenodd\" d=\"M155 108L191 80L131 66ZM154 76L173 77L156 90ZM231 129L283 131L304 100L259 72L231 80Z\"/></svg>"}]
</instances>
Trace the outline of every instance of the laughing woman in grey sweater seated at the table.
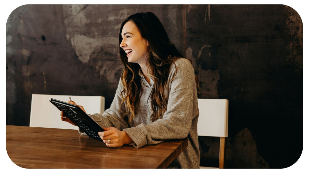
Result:
<instances>
[{"instance_id":1,"label":"laughing woman in grey sweater seated at the table","mask_svg":"<svg viewBox=\"0 0 309 173\"><path fill-rule=\"evenodd\" d=\"M88 114L105 130L99 136L108 147L135 148L188 137L188 147L169 167L199 168L198 79L191 61L176 50L150 12L122 22L119 45L124 68L111 107L103 115ZM61 119L72 123L62 112Z\"/></svg>"}]
</instances>

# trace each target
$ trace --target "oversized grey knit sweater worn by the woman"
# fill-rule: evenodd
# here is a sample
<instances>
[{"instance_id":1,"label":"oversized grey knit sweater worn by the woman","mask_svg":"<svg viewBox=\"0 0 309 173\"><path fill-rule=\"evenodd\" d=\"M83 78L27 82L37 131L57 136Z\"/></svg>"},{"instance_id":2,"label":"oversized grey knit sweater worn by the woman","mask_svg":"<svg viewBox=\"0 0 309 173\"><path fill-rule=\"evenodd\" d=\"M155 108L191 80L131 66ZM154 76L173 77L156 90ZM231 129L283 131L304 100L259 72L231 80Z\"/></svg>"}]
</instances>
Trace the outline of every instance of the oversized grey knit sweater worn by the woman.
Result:
<instances>
[{"instance_id":1,"label":"oversized grey knit sweater worn by the woman","mask_svg":"<svg viewBox=\"0 0 309 173\"><path fill-rule=\"evenodd\" d=\"M133 140L132 145L140 148L145 145L161 143L169 139L183 139L188 137L188 147L168 166L168 168L199 168L200 151L197 139L197 119L199 115L197 107L197 90L194 78L194 69L191 63L180 58L170 67L168 82L176 73L172 82L167 85L165 95L168 96L167 111L161 119L150 123L150 100L152 86L142 84L142 95L138 110L132 122L129 117L123 117L124 104L121 103L121 91L123 85L119 81L116 95L111 107L104 111L103 115L88 114L101 127L116 127L125 131ZM145 83L145 79L141 76ZM147 101L148 100L148 101ZM129 116L129 115L128 115ZM80 134L85 134L79 131Z\"/></svg>"}]
</instances>

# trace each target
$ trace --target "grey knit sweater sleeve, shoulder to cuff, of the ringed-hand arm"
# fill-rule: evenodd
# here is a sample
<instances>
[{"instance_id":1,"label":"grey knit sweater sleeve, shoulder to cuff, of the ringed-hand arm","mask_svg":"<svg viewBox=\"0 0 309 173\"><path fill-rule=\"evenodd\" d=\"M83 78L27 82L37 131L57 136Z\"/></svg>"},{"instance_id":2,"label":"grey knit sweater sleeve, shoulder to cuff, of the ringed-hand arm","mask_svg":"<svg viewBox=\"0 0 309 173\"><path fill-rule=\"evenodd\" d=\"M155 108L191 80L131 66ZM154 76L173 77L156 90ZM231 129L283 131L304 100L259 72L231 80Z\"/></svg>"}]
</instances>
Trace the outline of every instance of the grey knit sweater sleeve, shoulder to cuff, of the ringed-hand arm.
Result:
<instances>
[{"instance_id":1,"label":"grey knit sweater sleeve, shoulder to cuff, of the ringed-hand arm","mask_svg":"<svg viewBox=\"0 0 309 173\"><path fill-rule=\"evenodd\" d=\"M175 67L171 67L169 75L172 78L176 73L170 85L167 111L163 118L147 125L139 124L124 129L133 140L133 147L139 148L168 139L183 139L192 129L192 121L198 116L193 113L194 99L197 99L194 69L186 59L176 62L177 73Z\"/></svg>"}]
</instances>

